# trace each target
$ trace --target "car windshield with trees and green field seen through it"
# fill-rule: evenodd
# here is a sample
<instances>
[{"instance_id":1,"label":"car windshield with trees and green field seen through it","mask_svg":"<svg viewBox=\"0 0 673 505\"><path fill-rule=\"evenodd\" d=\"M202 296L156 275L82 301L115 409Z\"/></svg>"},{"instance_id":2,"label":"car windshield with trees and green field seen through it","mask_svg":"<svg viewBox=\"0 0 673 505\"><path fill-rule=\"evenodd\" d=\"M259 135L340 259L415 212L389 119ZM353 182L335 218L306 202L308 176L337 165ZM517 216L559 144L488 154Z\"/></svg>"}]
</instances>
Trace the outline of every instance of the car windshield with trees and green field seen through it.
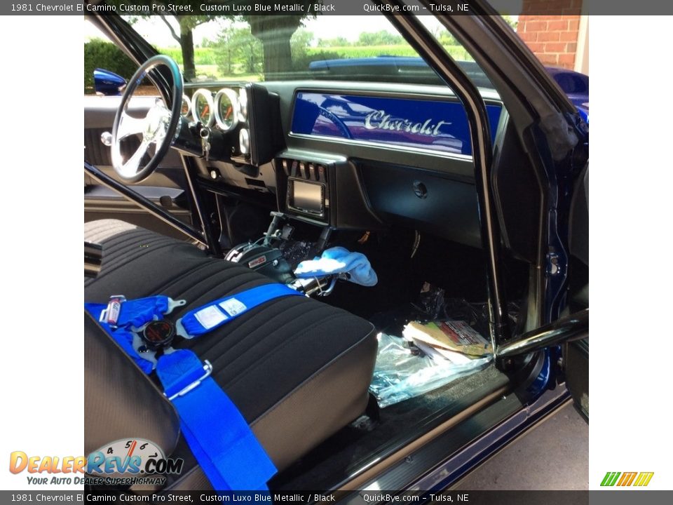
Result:
<instances>
[{"instance_id":1,"label":"car windshield with trees and green field seen through it","mask_svg":"<svg viewBox=\"0 0 673 505\"><path fill-rule=\"evenodd\" d=\"M152 5L158 4L161 1ZM171 4L173 8L179 4L194 4L194 8L200 10L215 9L219 5L195 4L193 1L172 1ZM256 1L255 4L273 2ZM324 15L310 11L290 15L245 15L212 11L215 13L211 15L180 15L179 11L117 12L159 53L176 60L188 82L329 79L441 83L435 72L380 13ZM440 22L431 15L421 15L419 19L477 86L491 87L467 50ZM104 43L102 38L92 25L87 27L85 43L100 46ZM97 48L95 52L106 51L111 53L113 49ZM91 51L85 46L85 65L88 53ZM121 57L117 59L121 60ZM116 68L109 68L109 65ZM109 65L107 69L112 72L126 79L130 76L126 75L129 69L120 62L110 62ZM104 65L97 63L95 66ZM132 69L133 65L128 67Z\"/></svg>"}]
</instances>

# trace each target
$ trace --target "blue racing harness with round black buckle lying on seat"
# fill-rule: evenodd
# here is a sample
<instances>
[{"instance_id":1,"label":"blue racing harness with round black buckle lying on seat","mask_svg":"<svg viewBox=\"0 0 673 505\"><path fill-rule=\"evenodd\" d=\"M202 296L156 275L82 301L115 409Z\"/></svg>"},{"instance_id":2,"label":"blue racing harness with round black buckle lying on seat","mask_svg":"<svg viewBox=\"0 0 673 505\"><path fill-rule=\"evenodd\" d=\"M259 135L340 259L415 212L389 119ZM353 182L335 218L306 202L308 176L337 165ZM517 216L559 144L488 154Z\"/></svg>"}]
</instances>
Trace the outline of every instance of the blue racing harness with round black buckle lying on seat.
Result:
<instances>
[{"instance_id":1,"label":"blue racing harness with round black buckle lying on seat","mask_svg":"<svg viewBox=\"0 0 673 505\"><path fill-rule=\"evenodd\" d=\"M212 365L189 349L172 349L175 335L192 339L219 328L272 299L304 296L283 284L267 284L188 311L175 323L163 316L185 300L158 295L108 304L85 303L85 309L135 363L156 374L180 417L184 438L215 490L267 490L276 473L247 422L212 377ZM154 352L158 357L154 356Z\"/></svg>"}]
</instances>

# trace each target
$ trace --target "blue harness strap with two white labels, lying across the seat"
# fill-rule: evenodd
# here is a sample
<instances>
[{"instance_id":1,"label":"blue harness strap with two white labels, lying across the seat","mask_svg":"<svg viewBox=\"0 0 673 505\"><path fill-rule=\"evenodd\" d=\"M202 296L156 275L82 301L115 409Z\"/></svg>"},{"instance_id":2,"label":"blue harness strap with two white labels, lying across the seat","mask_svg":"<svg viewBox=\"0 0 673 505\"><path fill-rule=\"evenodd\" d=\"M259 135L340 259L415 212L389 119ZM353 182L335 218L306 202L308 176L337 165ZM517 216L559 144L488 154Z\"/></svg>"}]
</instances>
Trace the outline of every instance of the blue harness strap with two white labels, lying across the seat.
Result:
<instances>
[{"instance_id":1,"label":"blue harness strap with two white labels, lying across the seat","mask_svg":"<svg viewBox=\"0 0 673 505\"><path fill-rule=\"evenodd\" d=\"M175 323L175 328L177 334L184 338L198 337L258 305L286 296L304 296L304 293L288 288L285 284L261 285L193 309Z\"/></svg>"}]
</instances>

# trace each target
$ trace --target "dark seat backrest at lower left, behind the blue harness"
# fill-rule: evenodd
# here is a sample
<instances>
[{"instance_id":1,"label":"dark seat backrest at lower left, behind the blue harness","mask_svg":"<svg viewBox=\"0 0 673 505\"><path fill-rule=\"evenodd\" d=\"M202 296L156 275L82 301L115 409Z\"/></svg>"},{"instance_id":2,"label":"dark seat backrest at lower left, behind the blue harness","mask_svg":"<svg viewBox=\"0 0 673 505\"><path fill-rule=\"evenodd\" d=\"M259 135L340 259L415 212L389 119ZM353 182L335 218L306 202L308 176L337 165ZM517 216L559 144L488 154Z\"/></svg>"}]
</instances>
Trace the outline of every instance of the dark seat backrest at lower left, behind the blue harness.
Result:
<instances>
[{"instance_id":1,"label":"dark seat backrest at lower left, behind the blue harness","mask_svg":"<svg viewBox=\"0 0 673 505\"><path fill-rule=\"evenodd\" d=\"M88 313L84 313L84 450L144 438L169 456L179 417L158 387Z\"/></svg>"}]
</instances>

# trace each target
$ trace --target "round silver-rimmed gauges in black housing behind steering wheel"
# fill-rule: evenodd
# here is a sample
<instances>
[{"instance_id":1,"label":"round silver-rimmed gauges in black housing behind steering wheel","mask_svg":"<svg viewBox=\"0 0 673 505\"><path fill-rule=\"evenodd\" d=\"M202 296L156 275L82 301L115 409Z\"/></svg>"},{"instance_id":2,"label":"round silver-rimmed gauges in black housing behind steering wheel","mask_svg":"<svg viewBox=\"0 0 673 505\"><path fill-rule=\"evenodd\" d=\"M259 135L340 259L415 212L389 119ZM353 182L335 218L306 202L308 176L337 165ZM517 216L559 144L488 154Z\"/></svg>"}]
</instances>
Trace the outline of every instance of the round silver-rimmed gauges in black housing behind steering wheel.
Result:
<instances>
[{"instance_id":1,"label":"round silver-rimmed gauges in black housing behind steering wheel","mask_svg":"<svg viewBox=\"0 0 673 505\"><path fill-rule=\"evenodd\" d=\"M198 88L191 99L182 97L182 116L208 138L210 159L253 166L271 161L285 144L279 107L278 95L256 83Z\"/></svg>"}]
</instances>

